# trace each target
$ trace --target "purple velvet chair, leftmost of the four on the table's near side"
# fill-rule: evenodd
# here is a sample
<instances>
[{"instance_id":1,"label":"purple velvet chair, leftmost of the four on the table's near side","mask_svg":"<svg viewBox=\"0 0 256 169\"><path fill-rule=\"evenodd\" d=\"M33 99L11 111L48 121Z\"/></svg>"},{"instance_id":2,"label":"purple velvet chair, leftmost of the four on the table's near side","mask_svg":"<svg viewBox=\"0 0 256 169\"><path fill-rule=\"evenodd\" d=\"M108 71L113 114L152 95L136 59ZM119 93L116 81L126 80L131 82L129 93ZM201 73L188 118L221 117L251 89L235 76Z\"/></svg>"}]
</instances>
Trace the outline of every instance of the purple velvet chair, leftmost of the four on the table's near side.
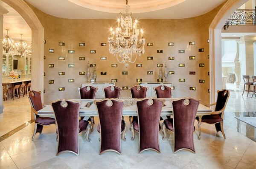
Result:
<instances>
[{"instance_id":1,"label":"purple velvet chair, leftmost of the four on the table's near side","mask_svg":"<svg viewBox=\"0 0 256 169\"><path fill-rule=\"evenodd\" d=\"M87 141L90 132L89 122L79 120L80 102L72 100L57 100L51 102L57 126L58 148L56 156L63 152L72 152L79 155L78 136L85 132Z\"/></svg>"}]
</instances>

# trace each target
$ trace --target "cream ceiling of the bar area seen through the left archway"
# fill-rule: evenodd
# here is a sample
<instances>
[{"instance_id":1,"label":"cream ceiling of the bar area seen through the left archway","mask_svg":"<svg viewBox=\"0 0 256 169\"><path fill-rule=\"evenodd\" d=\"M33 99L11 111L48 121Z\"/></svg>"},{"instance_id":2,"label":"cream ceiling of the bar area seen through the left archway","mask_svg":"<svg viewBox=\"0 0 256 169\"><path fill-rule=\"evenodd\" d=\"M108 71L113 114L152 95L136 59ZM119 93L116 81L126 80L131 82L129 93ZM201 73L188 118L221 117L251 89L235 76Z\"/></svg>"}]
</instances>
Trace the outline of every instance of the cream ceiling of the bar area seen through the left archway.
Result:
<instances>
[{"instance_id":1,"label":"cream ceiling of the bar area seen through the left archway","mask_svg":"<svg viewBox=\"0 0 256 169\"><path fill-rule=\"evenodd\" d=\"M21 17L20 14L17 13L17 11L15 11L12 7L8 6L2 1L0 1L0 7L9 11L7 14L3 15L3 37L6 36L5 29L9 29L8 35L12 39L19 40L20 34L23 34L22 39L31 42L31 28L23 17Z\"/></svg>"}]
</instances>

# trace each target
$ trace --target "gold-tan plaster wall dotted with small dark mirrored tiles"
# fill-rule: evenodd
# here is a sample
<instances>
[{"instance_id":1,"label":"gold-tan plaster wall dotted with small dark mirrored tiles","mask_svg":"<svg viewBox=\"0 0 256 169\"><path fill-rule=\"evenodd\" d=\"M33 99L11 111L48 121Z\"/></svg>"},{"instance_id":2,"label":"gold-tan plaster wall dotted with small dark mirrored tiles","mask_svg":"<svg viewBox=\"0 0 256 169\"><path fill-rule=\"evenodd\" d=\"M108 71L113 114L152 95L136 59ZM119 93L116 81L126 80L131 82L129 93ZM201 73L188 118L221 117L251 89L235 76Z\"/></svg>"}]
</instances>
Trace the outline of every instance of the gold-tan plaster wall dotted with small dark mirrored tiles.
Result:
<instances>
[{"instance_id":1,"label":"gold-tan plaster wall dotted with small dark mirrored tiles","mask_svg":"<svg viewBox=\"0 0 256 169\"><path fill-rule=\"evenodd\" d=\"M166 62L168 71L175 71L174 75L168 76L168 82L173 82L175 86L174 97L189 96L208 103L208 28L219 8L188 19L139 20L146 42L152 42L153 46L145 45L145 54L125 68L116 61L115 56L109 54L108 46L100 45L107 43L109 28L116 25L116 20L64 19L50 16L32 7L44 27L46 40L44 102L48 104L49 101L60 98L79 98L77 88L81 82L86 82L86 76L79 75L79 72L86 71L87 62L96 64L98 82L118 79L116 85L121 88L137 85L136 79L142 79L143 82L157 81L157 64L164 65ZM65 46L59 46L58 42L65 42ZM81 42L85 43L84 47L79 47ZM168 46L168 42L174 42L175 45ZM195 42L195 45L189 45L189 42ZM198 51L201 48L204 48L204 52ZM49 49L54 49L54 53L49 53ZM75 54L68 54L68 50L74 50ZM90 54L90 50L96 50L96 54ZM157 54L157 50L163 50L163 53ZM179 50L185 50L185 54L180 54ZM59 56L64 56L65 60L58 60ZM107 57L107 60L101 60L102 56ZM148 56L153 56L153 60L147 60ZM169 56L174 56L175 60L168 60ZM195 56L196 59L190 60L189 56ZM79 60L79 57L85 57L85 60ZM136 67L138 63L142 64L141 68ZM178 67L179 63L184 63L185 67ZM199 63L204 63L204 67L199 67ZM49 68L49 64L54 64L54 68ZM75 67L68 68L68 64L74 64ZM118 64L118 67L111 68L111 64ZM90 68L90 71L92 73L93 68ZM107 75L101 75L102 71L107 72ZM128 71L128 75L122 75L122 71ZM154 74L147 75L147 71L153 71ZM195 75L189 75L190 71L195 71ZM65 72L65 75L59 76L58 72ZM69 83L68 79L74 79L75 82ZM186 81L179 82L179 79ZM49 80L54 80L54 84L49 84ZM199 80L204 80L205 83L199 83ZM65 90L58 91L59 87L65 87ZM196 90L189 90L189 87L195 87ZM122 90L121 96L130 96L129 90Z\"/></svg>"}]
</instances>

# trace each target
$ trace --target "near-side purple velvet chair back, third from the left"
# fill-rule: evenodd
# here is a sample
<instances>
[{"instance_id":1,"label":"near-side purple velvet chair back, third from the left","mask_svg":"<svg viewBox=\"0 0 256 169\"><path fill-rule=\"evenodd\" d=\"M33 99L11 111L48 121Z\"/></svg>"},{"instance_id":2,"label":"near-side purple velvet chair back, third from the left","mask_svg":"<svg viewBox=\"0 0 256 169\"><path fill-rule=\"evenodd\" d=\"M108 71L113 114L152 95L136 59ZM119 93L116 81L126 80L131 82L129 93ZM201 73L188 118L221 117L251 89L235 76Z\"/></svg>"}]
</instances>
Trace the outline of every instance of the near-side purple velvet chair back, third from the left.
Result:
<instances>
[{"instance_id":1,"label":"near-side purple velvet chair back, third from the left","mask_svg":"<svg viewBox=\"0 0 256 169\"><path fill-rule=\"evenodd\" d=\"M143 99L137 101L139 124L139 153L152 149L160 153L158 132L163 101Z\"/></svg>"}]
</instances>

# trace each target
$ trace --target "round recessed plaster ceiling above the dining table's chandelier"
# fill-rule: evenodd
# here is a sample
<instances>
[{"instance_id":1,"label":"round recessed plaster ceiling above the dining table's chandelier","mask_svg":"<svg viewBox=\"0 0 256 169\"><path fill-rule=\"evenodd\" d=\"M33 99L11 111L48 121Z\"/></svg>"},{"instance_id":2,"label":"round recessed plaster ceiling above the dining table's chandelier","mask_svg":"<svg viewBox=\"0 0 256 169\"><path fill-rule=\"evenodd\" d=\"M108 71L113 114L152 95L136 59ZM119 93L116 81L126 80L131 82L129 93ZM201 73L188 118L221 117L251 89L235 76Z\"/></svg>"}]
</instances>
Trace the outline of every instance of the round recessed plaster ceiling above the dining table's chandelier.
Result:
<instances>
[{"instance_id":1,"label":"round recessed plaster ceiling above the dining table's chandelier","mask_svg":"<svg viewBox=\"0 0 256 169\"><path fill-rule=\"evenodd\" d=\"M124 11L125 0L26 0L55 17L113 19ZM226 0L129 0L130 11L141 19L180 19L205 14Z\"/></svg>"}]
</instances>

